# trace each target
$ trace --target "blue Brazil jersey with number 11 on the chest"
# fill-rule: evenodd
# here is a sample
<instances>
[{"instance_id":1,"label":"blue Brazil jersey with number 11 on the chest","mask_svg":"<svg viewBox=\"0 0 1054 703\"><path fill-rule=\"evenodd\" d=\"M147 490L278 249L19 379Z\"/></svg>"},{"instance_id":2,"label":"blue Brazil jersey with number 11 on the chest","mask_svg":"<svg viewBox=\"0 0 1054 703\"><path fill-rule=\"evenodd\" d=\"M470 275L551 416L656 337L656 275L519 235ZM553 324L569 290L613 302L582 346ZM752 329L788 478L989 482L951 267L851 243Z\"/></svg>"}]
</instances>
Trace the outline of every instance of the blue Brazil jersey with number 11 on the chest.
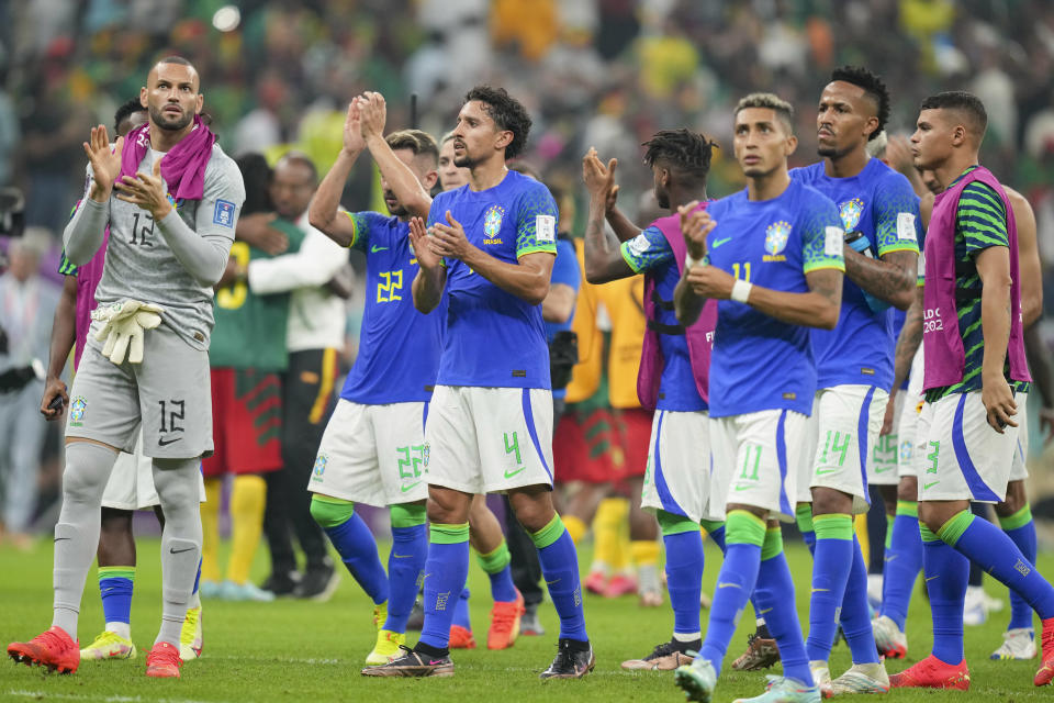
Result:
<instances>
[{"instance_id":1,"label":"blue Brazil jersey with number 11 on the chest","mask_svg":"<svg viewBox=\"0 0 1054 703\"><path fill-rule=\"evenodd\" d=\"M809 291L806 274L844 270L844 232L838 208L799 180L777 198L751 201L747 191L707 209L717 223L707 260L751 283ZM816 367L809 328L781 322L750 305L721 300L710 357L710 416L762 410L812 412Z\"/></svg>"}]
</instances>

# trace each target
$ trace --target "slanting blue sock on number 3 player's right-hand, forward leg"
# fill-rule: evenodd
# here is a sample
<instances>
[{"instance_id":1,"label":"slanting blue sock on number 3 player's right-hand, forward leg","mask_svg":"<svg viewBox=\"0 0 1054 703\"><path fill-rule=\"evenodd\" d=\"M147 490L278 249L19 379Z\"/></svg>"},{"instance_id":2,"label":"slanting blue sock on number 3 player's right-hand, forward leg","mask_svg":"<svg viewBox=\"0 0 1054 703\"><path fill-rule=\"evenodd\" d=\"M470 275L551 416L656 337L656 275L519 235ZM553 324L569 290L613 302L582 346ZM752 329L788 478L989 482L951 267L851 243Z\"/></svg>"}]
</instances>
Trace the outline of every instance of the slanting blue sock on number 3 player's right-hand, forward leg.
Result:
<instances>
[{"instance_id":1,"label":"slanting blue sock on number 3 player's right-hand, forward leg","mask_svg":"<svg viewBox=\"0 0 1054 703\"><path fill-rule=\"evenodd\" d=\"M1054 588L1025 559L1013 540L987 520L963 511L941 526L940 538L1017 591L1039 614L1054 617Z\"/></svg>"}]
</instances>

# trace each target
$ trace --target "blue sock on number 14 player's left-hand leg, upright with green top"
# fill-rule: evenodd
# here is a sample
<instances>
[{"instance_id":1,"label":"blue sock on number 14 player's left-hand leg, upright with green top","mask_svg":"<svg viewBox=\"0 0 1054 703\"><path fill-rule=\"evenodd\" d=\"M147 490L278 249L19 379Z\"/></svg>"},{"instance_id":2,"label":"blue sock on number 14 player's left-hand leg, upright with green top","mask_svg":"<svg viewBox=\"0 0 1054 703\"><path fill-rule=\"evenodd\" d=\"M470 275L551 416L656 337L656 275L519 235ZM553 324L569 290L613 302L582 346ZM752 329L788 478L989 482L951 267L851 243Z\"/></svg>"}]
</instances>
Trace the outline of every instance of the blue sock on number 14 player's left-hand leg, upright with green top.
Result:
<instances>
[{"instance_id":1,"label":"blue sock on number 14 player's left-hand leg, upright with green top","mask_svg":"<svg viewBox=\"0 0 1054 703\"><path fill-rule=\"evenodd\" d=\"M853 566L853 518L845 513L816 515L812 525L816 547L806 650L809 661L827 661L838 632L838 609L845 598L845 582ZM772 627L769 631L772 632Z\"/></svg>"}]
</instances>

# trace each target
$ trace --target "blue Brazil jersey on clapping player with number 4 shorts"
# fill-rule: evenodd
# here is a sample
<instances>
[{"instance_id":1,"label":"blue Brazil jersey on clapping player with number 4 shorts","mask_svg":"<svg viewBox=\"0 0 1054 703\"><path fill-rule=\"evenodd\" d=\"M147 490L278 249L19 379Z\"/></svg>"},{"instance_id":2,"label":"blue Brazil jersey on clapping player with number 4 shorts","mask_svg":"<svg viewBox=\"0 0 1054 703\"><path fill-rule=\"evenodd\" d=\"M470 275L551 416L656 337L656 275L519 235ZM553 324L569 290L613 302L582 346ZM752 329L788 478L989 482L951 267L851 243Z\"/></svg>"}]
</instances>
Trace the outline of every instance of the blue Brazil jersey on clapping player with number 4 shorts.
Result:
<instances>
[{"instance_id":1,"label":"blue Brazil jersey on clapping player with number 4 shorts","mask_svg":"<svg viewBox=\"0 0 1054 703\"><path fill-rule=\"evenodd\" d=\"M439 193L428 225L461 223L473 246L515 264L535 252L557 253L557 203L537 180L508 171L501 183ZM447 260L449 308L438 383L549 388L549 346L541 305L505 292L463 261Z\"/></svg>"}]
</instances>

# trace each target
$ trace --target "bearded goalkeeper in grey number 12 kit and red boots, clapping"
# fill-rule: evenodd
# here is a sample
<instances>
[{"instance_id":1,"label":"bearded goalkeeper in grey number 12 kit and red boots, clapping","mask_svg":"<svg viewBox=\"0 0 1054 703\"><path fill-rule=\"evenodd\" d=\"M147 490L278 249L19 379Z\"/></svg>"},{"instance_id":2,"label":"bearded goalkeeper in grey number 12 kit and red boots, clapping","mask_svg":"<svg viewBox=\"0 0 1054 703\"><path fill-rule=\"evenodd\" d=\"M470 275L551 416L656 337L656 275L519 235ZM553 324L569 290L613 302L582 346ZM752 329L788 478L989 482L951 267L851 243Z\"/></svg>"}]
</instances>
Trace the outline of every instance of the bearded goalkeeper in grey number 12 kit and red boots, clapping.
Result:
<instances>
[{"instance_id":1,"label":"bearded goalkeeper in grey number 12 kit and red boots, clapping","mask_svg":"<svg viewBox=\"0 0 1054 703\"><path fill-rule=\"evenodd\" d=\"M63 243L74 264L109 226L98 309L70 390L63 507L55 526L51 629L8 654L75 671L77 616L99 544L100 502L117 451L143 454L165 511L161 627L150 677L179 677L179 635L201 556L199 464L212 454L209 338L212 287L226 268L245 188L201 120L198 72L173 56L150 70L141 100L149 122L110 144L91 131L85 198Z\"/></svg>"}]
</instances>

